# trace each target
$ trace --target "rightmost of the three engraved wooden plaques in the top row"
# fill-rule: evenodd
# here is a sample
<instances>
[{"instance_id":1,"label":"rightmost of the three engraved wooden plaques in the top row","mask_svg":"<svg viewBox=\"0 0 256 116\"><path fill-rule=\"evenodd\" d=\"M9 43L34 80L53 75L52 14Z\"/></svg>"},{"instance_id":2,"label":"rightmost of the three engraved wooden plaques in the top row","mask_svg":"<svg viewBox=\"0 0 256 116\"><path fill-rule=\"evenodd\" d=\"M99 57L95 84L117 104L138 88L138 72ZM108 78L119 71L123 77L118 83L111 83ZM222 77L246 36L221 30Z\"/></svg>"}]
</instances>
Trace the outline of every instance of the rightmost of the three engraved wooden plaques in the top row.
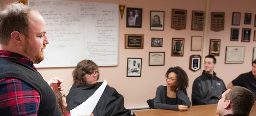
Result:
<instances>
[{"instance_id":1,"label":"rightmost of the three engraved wooden plaques in the top row","mask_svg":"<svg viewBox=\"0 0 256 116\"><path fill-rule=\"evenodd\" d=\"M221 31L224 30L224 12L212 12L211 19L211 30L213 31Z\"/></svg>"}]
</instances>

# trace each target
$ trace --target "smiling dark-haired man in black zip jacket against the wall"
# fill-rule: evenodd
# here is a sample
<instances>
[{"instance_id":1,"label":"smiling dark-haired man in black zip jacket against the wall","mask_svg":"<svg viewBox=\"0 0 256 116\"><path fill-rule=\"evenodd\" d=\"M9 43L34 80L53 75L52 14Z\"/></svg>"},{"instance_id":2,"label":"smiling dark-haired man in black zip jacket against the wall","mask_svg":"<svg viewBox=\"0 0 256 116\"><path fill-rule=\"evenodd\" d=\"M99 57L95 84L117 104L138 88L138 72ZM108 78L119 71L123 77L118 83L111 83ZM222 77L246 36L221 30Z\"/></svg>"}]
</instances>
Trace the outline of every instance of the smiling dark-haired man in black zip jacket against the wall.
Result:
<instances>
[{"instance_id":1,"label":"smiling dark-haired man in black zip jacket against the wall","mask_svg":"<svg viewBox=\"0 0 256 116\"><path fill-rule=\"evenodd\" d=\"M192 105L216 104L219 96L227 90L224 82L216 77L216 73L213 71L215 66L215 57L206 56L204 71L194 80L192 86Z\"/></svg>"}]
</instances>

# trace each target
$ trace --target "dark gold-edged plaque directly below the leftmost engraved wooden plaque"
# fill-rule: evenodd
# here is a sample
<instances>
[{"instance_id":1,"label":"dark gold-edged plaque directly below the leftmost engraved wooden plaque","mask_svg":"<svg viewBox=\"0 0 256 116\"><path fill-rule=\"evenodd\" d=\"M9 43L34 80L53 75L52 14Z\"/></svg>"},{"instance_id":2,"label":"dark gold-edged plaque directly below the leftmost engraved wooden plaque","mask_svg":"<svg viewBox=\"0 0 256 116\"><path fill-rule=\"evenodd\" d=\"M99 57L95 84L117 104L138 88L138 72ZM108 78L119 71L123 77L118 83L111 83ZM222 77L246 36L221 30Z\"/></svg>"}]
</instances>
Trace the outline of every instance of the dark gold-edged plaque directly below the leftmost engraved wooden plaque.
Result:
<instances>
[{"instance_id":1,"label":"dark gold-edged plaque directly below the leftmost engraved wooden plaque","mask_svg":"<svg viewBox=\"0 0 256 116\"><path fill-rule=\"evenodd\" d=\"M184 38L172 38L172 55L183 56L184 54Z\"/></svg>"}]
</instances>

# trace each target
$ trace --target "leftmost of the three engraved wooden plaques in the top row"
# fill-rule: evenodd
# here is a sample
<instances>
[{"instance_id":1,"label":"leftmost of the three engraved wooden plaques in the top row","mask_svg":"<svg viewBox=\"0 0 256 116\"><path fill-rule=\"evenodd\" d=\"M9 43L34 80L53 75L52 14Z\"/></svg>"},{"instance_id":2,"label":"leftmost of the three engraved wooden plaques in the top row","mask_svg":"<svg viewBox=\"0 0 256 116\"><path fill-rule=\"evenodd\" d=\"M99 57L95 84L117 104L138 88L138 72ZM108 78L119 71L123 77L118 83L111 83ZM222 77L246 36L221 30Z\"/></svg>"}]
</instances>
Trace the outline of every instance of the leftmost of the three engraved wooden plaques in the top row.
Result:
<instances>
[{"instance_id":1,"label":"leftmost of the three engraved wooden plaques in the top row","mask_svg":"<svg viewBox=\"0 0 256 116\"><path fill-rule=\"evenodd\" d=\"M175 30L186 29L187 10L172 9L172 26Z\"/></svg>"}]
</instances>

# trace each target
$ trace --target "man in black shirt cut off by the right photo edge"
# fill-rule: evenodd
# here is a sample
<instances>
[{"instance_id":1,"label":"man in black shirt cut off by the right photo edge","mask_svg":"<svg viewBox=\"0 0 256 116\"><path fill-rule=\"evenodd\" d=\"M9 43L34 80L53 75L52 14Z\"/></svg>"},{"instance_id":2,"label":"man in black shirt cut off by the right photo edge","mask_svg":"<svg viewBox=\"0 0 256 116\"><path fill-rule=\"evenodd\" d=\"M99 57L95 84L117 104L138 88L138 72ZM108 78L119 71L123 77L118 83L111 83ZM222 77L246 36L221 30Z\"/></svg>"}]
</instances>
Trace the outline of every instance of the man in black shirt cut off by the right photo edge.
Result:
<instances>
[{"instance_id":1,"label":"man in black shirt cut off by the right photo edge","mask_svg":"<svg viewBox=\"0 0 256 116\"><path fill-rule=\"evenodd\" d=\"M234 85L243 86L251 90L256 99L256 60L252 62L252 70L250 72L239 75L227 85L227 88Z\"/></svg>"}]
</instances>

